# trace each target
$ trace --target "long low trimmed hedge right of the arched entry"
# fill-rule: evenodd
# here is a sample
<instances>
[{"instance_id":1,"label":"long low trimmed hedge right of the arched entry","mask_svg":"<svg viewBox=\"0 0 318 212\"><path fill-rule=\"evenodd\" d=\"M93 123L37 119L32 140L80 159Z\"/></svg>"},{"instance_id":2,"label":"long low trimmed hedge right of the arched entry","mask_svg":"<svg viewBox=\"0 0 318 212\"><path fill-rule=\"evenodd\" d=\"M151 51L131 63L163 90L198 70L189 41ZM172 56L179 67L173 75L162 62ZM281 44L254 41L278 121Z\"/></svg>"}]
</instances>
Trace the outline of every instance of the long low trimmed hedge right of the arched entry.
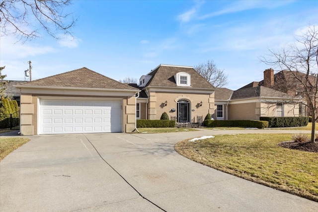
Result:
<instances>
[{"instance_id":1,"label":"long low trimmed hedge right of the arched entry","mask_svg":"<svg viewBox=\"0 0 318 212\"><path fill-rule=\"evenodd\" d=\"M207 127L250 127L263 129L268 127L268 122L255 120L205 120L204 125Z\"/></svg>"}]
</instances>

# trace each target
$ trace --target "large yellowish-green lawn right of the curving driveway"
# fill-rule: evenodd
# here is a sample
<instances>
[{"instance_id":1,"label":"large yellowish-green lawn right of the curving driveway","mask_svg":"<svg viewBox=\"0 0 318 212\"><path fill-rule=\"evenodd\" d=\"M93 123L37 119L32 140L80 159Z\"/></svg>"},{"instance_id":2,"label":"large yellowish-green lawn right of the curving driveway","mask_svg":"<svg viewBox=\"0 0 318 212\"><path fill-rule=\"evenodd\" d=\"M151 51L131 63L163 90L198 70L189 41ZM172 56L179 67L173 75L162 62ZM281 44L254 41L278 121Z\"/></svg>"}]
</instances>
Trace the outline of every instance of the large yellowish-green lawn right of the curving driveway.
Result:
<instances>
[{"instance_id":1,"label":"large yellowish-green lawn right of the curving driveway","mask_svg":"<svg viewBox=\"0 0 318 212\"><path fill-rule=\"evenodd\" d=\"M226 173L318 201L318 153L277 144L290 134L224 135L195 142L180 141L181 155Z\"/></svg>"}]
</instances>

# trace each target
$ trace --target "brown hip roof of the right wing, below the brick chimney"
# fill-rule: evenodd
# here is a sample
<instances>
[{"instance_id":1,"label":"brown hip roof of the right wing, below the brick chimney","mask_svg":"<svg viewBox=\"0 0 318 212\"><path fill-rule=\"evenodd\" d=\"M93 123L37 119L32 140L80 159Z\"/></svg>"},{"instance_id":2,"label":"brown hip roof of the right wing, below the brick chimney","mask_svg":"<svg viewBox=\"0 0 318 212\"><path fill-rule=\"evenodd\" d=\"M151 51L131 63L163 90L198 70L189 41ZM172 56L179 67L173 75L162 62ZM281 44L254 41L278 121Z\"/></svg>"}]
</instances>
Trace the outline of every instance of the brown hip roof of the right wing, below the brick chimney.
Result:
<instances>
[{"instance_id":1,"label":"brown hip roof of the right wing, below the brick chimney","mask_svg":"<svg viewBox=\"0 0 318 212\"><path fill-rule=\"evenodd\" d=\"M234 91L231 100L255 98L255 97L288 98L291 96L289 96L287 93L283 93L268 87L258 86L258 87L243 88L243 89Z\"/></svg>"}]
</instances>

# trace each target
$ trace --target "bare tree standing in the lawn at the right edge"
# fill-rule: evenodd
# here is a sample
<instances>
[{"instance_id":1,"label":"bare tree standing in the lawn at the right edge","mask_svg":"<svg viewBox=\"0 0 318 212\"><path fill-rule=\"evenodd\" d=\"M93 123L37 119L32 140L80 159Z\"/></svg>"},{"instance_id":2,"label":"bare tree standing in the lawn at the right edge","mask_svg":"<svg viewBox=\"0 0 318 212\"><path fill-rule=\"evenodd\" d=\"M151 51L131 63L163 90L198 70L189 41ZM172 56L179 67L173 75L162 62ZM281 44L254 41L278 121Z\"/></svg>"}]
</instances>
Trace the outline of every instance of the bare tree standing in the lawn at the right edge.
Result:
<instances>
[{"instance_id":1,"label":"bare tree standing in the lawn at the right edge","mask_svg":"<svg viewBox=\"0 0 318 212\"><path fill-rule=\"evenodd\" d=\"M268 59L261 61L279 68L283 77L276 76L274 89L292 95L295 102L302 98L313 117L311 142L315 142L315 125L318 120L318 30L310 26L306 32L296 39L296 43L284 47L280 51L270 51Z\"/></svg>"}]
</instances>

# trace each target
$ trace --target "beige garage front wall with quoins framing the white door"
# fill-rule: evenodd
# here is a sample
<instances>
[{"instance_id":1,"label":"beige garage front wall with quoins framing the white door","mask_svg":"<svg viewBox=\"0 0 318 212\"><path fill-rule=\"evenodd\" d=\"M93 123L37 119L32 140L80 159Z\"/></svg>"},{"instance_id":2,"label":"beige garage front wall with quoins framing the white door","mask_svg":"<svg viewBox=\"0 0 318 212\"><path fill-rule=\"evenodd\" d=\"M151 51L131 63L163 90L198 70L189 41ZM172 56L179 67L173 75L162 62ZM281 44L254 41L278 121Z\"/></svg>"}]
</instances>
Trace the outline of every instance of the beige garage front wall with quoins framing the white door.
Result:
<instances>
[{"instance_id":1,"label":"beige garage front wall with quoins framing the white door","mask_svg":"<svg viewBox=\"0 0 318 212\"><path fill-rule=\"evenodd\" d=\"M21 88L20 131L21 135L38 135L39 99L92 99L120 100L122 104L122 132L132 132L136 127L136 92L128 90L80 90L80 89L45 89Z\"/></svg>"}]
</instances>

